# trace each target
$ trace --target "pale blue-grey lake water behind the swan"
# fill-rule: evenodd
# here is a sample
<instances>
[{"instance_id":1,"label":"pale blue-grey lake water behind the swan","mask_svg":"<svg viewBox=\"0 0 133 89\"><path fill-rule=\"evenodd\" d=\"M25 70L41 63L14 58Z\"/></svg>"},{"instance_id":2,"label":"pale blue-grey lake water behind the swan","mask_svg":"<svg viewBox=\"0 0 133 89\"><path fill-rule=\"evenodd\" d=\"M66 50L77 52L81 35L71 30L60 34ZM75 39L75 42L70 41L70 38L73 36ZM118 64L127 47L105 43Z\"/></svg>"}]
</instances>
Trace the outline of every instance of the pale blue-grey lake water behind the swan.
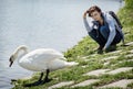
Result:
<instances>
[{"instance_id":1,"label":"pale blue-grey lake water behind the swan","mask_svg":"<svg viewBox=\"0 0 133 89\"><path fill-rule=\"evenodd\" d=\"M9 57L19 45L66 51L88 35L82 15L93 4L115 12L121 7L120 0L0 0L0 89L32 74L17 62L9 68Z\"/></svg>"}]
</instances>

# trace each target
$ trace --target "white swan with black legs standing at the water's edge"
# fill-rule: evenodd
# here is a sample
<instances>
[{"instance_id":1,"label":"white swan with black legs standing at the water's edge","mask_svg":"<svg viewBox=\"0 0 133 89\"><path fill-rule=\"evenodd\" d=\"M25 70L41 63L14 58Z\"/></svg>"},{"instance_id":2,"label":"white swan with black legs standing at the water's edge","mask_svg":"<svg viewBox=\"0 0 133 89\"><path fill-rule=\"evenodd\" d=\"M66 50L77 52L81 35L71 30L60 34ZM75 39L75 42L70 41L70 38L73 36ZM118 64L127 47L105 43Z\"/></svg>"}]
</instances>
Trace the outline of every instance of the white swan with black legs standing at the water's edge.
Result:
<instances>
[{"instance_id":1,"label":"white swan with black legs standing at the water's edge","mask_svg":"<svg viewBox=\"0 0 133 89\"><path fill-rule=\"evenodd\" d=\"M61 69L68 66L78 65L75 62L66 62L65 57L58 51L52 48L39 48L28 53L28 48L24 45L19 46L11 55L9 62L10 67L14 59L18 58L18 63L21 67L32 70L41 71L39 82L49 81L49 73L52 70ZM42 80L43 73L47 71L45 78Z\"/></svg>"}]
</instances>

